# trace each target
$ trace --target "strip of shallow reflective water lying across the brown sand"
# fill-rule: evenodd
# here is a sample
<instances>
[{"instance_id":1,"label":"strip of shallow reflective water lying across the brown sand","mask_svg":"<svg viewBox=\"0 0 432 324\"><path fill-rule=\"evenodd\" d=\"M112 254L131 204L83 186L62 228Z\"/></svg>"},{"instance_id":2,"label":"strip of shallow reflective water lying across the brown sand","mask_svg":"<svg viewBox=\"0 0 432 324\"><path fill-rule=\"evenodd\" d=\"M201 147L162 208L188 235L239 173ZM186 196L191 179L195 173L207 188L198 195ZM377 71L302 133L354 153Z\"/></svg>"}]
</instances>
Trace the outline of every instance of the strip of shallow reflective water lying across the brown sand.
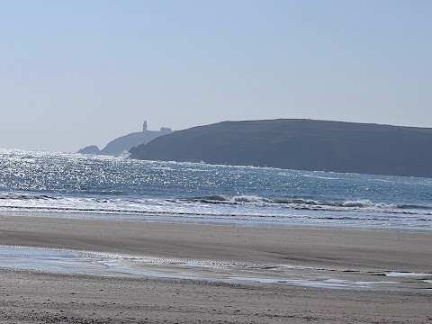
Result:
<instances>
[{"instance_id":1,"label":"strip of shallow reflective water lying across the brown sand","mask_svg":"<svg viewBox=\"0 0 432 324\"><path fill-rule=\"evenodd\" d=\"M147 276L316 288L416 290L432 293L432 274L345 273L290 265L255 265L220 260L144 257L40 247L0 246L0 267L49 273ZM408 279L407 279L408 278Z\"/></svg>"}]
</instances>

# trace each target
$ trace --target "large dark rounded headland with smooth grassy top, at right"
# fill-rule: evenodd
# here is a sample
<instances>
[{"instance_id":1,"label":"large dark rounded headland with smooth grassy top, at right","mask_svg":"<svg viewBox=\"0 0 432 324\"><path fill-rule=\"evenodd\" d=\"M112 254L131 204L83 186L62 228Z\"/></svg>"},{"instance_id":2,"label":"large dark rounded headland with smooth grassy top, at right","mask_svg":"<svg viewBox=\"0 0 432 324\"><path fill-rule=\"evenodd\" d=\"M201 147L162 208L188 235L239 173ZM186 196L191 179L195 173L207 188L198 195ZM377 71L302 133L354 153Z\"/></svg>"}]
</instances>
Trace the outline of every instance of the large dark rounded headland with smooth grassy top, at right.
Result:
<instances>
[{"instance_id":1,"label":"large dark rounded headland with smooth grassy top, at right","mask_svg":"<svg viewBox=\"0 0 432 324\"><path fill-rule=\"evenodd\" d=\"M339 121L224 121L131 148L132 158L432 177L432 129Z\"/></svg>"}]
</instances>

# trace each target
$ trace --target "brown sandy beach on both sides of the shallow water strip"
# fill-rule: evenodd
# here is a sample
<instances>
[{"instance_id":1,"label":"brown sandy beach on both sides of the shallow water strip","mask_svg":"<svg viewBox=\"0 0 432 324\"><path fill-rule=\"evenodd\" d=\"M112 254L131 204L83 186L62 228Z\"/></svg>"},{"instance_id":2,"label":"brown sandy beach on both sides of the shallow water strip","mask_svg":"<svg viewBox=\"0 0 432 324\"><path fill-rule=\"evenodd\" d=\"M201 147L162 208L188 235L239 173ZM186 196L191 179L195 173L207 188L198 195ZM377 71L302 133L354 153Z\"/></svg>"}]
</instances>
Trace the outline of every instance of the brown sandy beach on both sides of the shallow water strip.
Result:
<instances>
[{"instance_id":1,"label":"brown sandy beach on both sides of the shallow water strip","mask_svg":"<svg viewBox=\"0 0 432 324\"><path fill-rule=\"evenodd\" d=\"M18 216L2 217L0 224L0 245L6 246L284 264L353 280L389 280L383 274L392 271L432 272L428 233ZM432 284L410 289L412 278L402 283L407 289L386 290L15 269L0 270L0 277L4 323L432 322Z\"/></svg>"}]
</instances>

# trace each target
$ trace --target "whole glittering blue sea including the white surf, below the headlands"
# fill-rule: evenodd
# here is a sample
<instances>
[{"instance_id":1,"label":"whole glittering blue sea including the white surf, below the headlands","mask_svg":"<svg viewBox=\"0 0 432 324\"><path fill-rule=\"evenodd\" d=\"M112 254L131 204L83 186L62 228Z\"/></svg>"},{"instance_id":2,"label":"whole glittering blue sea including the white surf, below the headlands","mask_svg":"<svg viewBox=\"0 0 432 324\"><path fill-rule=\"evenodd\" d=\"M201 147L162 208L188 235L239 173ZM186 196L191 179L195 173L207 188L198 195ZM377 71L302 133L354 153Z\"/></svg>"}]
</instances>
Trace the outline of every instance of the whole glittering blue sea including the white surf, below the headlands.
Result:
<instances>
[{"instance_id":1,"label":"whole glittering blue sea including the white surf, below the headlands","mask_svg":"<svg viewBox=\"0 0 432 324\"><path fill-rule=\"evenodd\" d=\"M432 179L0 149L0 217L432 231Z\"/></svg>"}]
</instances>

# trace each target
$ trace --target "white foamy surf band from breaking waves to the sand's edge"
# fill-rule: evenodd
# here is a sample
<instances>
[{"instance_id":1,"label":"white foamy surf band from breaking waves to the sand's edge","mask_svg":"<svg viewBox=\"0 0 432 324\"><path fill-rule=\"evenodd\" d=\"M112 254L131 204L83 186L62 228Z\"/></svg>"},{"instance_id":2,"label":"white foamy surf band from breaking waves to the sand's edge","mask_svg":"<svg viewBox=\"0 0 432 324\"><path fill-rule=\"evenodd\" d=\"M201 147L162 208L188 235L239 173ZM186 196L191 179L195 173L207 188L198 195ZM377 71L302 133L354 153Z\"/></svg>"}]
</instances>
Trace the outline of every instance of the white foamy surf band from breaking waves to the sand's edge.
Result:
<instances>
[{"instance_id":1,"label":"white foamy surf band from breaking waves to the sand's edge","mask_svg":"<svg viewBox=\"0 0 432 324\"><path fill-rule=\"evenodd\" d=\"M344 211L344 212L341 212ZM254 195L152 199L0 193L0 212L106 220L157 220L251 226L364 226L430 230L428 206L383 204L368 200L320 201Z\"/></svg>"}]
</instances>

